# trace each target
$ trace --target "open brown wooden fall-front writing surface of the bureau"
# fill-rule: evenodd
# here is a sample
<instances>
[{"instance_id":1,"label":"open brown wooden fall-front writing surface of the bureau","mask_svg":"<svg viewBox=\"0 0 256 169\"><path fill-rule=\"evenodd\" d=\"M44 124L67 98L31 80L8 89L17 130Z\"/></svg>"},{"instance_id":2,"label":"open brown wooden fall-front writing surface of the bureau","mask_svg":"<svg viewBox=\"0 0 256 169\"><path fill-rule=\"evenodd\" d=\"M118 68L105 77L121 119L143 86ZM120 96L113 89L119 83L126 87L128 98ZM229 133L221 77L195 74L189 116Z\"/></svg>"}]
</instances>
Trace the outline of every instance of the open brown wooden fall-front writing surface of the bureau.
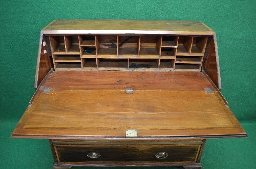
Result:
<instances>
[{"instance_id":1,"label":"open brown wooden fall-front writing surface of the bureau","mask_svg":"<svg viewBox=\"0 0 256 169\"><path fill-rule=\"evenodd\" d=\"M137 139L247 136L201 72L55 71L12 137L125 139L126 129Z\"/></svg>"}]
</instances>

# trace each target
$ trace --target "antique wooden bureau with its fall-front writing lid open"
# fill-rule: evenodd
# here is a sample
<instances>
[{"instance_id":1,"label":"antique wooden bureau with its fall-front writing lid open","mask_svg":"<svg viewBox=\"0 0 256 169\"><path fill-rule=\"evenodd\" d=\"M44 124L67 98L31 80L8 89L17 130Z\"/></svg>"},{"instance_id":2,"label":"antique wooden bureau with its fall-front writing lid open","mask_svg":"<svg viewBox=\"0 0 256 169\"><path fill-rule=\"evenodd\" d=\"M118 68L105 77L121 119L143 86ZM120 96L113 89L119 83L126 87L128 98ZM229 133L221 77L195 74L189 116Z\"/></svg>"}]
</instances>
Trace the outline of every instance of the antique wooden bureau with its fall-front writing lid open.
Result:
<instances>
[{"instance_id":1,"label":"antique wooden bureau with its fall-front writing lid open","mask_svg":"<svg viewBox=\"0 0 256 169\"><path fill-rule=\"evenodd\" d=\"M53 168L202 168L207 138L246 137L200 21L54 20L11 137L49 139Z\"/></svg>"}]
</instances>

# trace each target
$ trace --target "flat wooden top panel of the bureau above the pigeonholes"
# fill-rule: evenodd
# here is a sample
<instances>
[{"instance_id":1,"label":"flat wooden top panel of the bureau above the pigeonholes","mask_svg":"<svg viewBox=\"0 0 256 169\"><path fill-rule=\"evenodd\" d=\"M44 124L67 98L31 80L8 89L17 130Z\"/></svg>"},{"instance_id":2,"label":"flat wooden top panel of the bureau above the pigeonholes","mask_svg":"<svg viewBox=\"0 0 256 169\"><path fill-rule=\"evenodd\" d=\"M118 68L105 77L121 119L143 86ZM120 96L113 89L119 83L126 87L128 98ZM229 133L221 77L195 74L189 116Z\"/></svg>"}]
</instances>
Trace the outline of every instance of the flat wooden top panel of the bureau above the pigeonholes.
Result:
<instances>
[{"instance_id":1,"label":"flat wooden top panel of the bureau above the pigeonholes","mask_svg":"<svg viewBox=\"0 0 256 169\"><path fill-rule=\"evenodd\" d=\"M143 32L161 32L161 34L180 33L189 34L193 32L201 32L212 34L212 31L207 25L201 21L184 21L184 20L53 20L44 29L44 34L52 31L88 31L92 34L109 32L110 34L116 31L122 33L142 33ZM127 32L128 31L128 32ZM74 33L74 32L73 32ZM160 34L160 33L159 33Z\"/></svg>"}]
</instances>

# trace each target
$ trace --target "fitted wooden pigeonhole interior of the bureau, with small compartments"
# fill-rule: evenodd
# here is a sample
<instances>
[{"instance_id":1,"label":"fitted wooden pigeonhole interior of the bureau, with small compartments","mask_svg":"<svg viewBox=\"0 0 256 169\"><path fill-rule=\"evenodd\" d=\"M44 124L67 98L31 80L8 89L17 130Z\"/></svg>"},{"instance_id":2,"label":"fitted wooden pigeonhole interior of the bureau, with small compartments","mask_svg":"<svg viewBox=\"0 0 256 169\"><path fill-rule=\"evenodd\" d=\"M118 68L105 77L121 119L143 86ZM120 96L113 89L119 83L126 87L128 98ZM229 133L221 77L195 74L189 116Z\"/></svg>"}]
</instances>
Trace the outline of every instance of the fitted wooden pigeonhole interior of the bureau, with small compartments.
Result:
<instances>
[{"instance_id":1,"label":"fitted wooden pigeonhole interior of the bureau, with small compartments","mask_svg":"<svg viewBox=\"0 0 256 169\"><path fill-rule=\"evenodd\" d=\"M200 71L207 43L207 37L167 35L49 38L56 70Z\"/></svg>"}]
</instances>

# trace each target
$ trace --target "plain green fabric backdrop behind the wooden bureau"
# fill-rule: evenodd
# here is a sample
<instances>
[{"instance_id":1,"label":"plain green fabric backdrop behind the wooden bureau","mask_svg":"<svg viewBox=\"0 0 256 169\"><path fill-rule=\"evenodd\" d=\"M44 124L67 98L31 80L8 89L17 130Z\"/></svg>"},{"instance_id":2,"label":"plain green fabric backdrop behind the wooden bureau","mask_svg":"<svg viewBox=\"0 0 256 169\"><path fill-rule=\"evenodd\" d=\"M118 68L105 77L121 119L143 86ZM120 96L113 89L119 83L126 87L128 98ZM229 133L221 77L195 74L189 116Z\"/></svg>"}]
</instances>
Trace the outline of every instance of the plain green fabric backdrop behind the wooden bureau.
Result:
<instances>
[{"instance_id":1,"label":"plain green fabric backdrop behind the wooden bureau","mask_svg":"<svg viewBox=\"0 0 256 169\"><path fill-rule=\"evenodd\" d=\"M9 137L34 93L40 30L54 19L201 20L211 27L217 33L222 94L249 137L208 139L201 163L205 169L256 168L255 1L0 2L0 168L52 167L48 140Z\"/></svg>"}]
</instances>

